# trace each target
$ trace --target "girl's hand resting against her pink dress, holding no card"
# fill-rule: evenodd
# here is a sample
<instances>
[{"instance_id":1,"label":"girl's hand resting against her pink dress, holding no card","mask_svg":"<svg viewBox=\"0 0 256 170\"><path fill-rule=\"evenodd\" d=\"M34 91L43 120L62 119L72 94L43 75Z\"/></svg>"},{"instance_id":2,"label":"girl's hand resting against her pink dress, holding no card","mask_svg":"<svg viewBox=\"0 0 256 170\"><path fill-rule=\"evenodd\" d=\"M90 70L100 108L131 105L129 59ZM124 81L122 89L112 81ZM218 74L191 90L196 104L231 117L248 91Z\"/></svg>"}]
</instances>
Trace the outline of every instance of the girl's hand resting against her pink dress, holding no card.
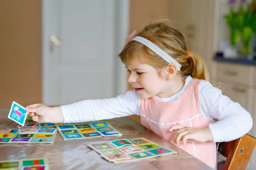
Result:
<instances>
[{"instance_id":1,"label":"girl's hand resting against her pink dress, holding no card","mask_svg":"<svg viewBox=\"0 0 256 170\"><path fill-rule=\"evenodd\" d=\"M182 125L174 125L169 131L177 130L174 136L174 142L179 145L180 143L186 144L186 142L207 142L213 141L212 132L208 127L201 129L193 127L185 127Z\"/></svg>"}]
</instances>

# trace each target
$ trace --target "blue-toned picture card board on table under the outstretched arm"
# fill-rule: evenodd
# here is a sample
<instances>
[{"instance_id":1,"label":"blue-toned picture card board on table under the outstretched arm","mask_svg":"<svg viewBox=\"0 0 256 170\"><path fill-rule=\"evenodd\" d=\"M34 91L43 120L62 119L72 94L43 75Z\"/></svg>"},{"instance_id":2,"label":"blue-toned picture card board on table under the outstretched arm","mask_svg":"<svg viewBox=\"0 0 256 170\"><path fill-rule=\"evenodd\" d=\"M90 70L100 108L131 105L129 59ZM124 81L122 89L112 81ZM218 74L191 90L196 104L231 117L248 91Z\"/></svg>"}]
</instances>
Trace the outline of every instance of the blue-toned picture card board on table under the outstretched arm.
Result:
<instances>
[{"instance_id":1,"label":"blue-toned picture card board on table under the outstretched arm","mask_svg":"<svg viewBox=\"0 0 256 170\"><path fill-rule=\"evenodd\" d=\"M64 140L86 139L100 136L122 136L107 122L93 122L87 124L56 125Z\"/></svg>"}]
</instances>

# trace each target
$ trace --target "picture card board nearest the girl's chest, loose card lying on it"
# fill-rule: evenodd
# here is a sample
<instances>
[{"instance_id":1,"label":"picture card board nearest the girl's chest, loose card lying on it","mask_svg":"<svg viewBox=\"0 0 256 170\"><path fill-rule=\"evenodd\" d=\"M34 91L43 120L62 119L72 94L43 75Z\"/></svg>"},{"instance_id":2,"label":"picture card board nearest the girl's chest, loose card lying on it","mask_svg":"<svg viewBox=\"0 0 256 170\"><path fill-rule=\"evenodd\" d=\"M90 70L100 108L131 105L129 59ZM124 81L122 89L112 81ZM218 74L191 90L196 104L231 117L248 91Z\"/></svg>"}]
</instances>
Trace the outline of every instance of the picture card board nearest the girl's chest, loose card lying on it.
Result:
<instances>
[{"instance_id":1,"label":"picture card board nearest the girl's chest, loose card lying on it","mask_svg":"<svg viewBox=\"0 0 256 170\"><path fill-rule=\"evenodd\" d=\"M108 143L88 144L88 146L115 164L177 153L145 138L117 139Z\"/></svg>"}]
</instances>

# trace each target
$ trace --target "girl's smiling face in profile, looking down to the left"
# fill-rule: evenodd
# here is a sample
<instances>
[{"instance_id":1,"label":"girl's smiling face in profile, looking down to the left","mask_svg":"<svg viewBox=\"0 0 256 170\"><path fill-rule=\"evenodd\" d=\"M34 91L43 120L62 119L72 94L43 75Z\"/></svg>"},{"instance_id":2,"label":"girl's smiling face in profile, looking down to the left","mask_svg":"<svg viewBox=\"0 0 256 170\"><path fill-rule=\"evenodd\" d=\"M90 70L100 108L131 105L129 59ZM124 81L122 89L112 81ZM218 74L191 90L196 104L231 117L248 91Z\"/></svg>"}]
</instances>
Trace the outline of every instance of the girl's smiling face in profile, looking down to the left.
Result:
<instances>
[{"instance_id":1,"label":"girl's smiling face in profile, looking down to the left","mask_svg":"<svg viewBox=\"0 0 256 170\"><path fill-rule=\"evenodd\" d=\"M140 99L147 99L163 92L166 85L165 77L161 78L157 69L148 64L142 64L134 59L131 65L126 65L128 82L135 88Z\"/></svg>"}]
</instances>

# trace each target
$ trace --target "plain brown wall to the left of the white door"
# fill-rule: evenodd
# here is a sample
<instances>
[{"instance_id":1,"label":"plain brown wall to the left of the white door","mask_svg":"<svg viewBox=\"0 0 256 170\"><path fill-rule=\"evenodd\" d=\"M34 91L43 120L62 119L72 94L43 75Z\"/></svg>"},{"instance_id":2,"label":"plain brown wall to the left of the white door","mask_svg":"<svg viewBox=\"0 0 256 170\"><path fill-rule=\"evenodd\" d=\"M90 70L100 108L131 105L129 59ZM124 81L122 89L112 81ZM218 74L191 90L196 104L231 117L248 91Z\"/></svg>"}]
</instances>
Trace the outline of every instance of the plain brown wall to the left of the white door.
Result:
<instances>
[{"instance_id":1,"label":"plain brown wall to the left of the white door","mask_svg":"<svg viewBox=\"0 0 256 170\"><path fill-rule=\"evenodd\" d=\"M41 102L41 0L1 0L0 33L0 108Z\"/></svg>"}]
</instances>

